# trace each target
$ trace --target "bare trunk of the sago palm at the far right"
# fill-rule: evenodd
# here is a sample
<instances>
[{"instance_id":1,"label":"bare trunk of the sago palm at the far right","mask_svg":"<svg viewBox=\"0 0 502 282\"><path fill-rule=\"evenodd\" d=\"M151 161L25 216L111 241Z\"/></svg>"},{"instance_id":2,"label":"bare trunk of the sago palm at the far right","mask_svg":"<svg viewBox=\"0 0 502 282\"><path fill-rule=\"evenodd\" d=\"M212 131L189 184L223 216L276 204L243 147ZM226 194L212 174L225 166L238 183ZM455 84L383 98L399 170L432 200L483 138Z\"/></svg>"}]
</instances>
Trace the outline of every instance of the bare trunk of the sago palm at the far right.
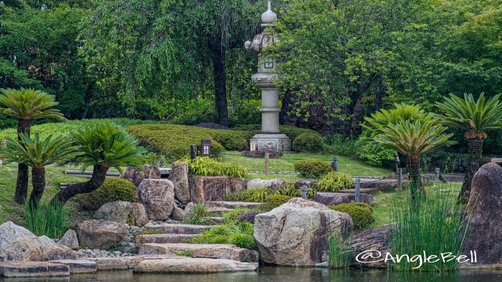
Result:
<instances>
[{"instance_id":1,"label":"bare trunk of the sago palm at the far right","mask_svg":"<svg viewBox=\"0 0 502 282\"><path fill-rule=\"evenodd\" d=\"M482 137L467 139L467 166L465 168L462 190L458 194L458 200L462 204L466 204L469 201L472 178L479 168L479 159L481 159L483 154L483 141L484 138Z\"/></svg>"}]
</instances>

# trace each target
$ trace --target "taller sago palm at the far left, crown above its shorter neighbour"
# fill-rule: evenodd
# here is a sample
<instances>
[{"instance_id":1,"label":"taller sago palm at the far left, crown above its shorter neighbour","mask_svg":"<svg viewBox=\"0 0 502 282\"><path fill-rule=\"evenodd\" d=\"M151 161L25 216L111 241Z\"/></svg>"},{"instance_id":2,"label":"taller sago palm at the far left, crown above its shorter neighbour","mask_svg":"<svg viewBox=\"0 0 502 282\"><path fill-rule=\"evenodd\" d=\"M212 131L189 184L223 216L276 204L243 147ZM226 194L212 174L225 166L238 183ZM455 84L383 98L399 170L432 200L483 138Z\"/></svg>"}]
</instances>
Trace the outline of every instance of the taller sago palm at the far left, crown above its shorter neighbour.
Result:
<instances>
[{"instance_id":1,"label":"taller sago palm at the far left, crown above its shorter neighbour","mask_svg":"<svg viewBox=\"0 0 502 282\"><path fill-rule=\"evenodd\" d=\"M54 95L33 89L0 89L0 113L18 119L18 139L20 134L31 128L32 120L54 118L67 120L62 113L52 107L57 105ZM3 107L2 107L3 106ZM29 131L28 131L29 133ZM18 165L18 180L14 199L22 204L28 196L28 166Z\"/></svg>"}]
</instances>

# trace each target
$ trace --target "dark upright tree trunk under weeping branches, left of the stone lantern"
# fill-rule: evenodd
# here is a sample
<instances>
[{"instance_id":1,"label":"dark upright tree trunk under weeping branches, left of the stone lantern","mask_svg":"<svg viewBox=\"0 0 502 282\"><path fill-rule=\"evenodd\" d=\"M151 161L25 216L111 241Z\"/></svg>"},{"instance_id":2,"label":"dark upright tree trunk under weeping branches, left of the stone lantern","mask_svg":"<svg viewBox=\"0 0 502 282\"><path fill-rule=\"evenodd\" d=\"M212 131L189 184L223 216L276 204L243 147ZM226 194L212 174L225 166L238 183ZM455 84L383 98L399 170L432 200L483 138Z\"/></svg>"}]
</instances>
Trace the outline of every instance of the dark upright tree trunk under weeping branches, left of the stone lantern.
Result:
<instances>
[{"instance_id":1,"label":"dark upright tree trunk under weeping branches, left of the stone lantern","mask_svg":"<svg viewBox=\"0 0 502 282\"><path fill-rule=\"evenodd\" d=\"M228 105L226 101L225 50L221 38L211 38L209 41L213 57L214 107L218 124L228 126Z\"/></svg>"}]
</instances>

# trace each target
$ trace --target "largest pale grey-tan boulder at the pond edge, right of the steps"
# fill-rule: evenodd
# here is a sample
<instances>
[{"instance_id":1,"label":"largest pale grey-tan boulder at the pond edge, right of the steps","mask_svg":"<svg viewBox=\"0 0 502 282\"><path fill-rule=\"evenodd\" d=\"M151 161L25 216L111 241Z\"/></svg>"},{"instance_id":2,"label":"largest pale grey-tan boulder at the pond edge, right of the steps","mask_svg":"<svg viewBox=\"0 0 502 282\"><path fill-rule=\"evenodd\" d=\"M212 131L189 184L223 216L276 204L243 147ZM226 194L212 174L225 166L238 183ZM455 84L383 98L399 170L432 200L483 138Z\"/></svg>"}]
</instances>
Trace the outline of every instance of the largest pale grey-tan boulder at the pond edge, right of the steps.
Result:
<instances>
[{"instance_id":1,"label":"largest pale grey-tan boulder at the pond edge, right of the steps","mask_svg":"<svg viewBox=\"0 0 502 282\"><path fill-rule=\"evenodd\" d=\"M255 217L253 236L266 263L313 266L322 262L329 232L348 232L352 219L323 204L293 198Z\"/></svg>"}]
</instances>

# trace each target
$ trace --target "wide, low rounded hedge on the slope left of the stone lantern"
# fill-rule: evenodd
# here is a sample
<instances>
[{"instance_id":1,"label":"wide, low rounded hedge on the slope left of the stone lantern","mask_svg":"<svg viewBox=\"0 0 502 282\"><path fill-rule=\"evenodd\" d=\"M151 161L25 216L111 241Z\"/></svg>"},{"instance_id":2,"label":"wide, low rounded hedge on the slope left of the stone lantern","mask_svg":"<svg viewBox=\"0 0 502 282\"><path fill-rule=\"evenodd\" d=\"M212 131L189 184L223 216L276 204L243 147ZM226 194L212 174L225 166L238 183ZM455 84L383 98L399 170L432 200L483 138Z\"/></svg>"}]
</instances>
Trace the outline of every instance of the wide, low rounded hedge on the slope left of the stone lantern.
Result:
<instances>
[{"instance_id":1,"label":"wide, low rounded hedge on the slope left of the stone lantern","mask_svg":"<svg viewBox=\"0 0 502 282\"><path fill-rule=\"evenodd\" d=\"M211 156L218 156L225 150L247 149L248 136L245 131L218 130L178 124L138 124L126 127L140 145L149 150L189 150L195 144L200 151L200 140L211 140ZM164 152L162 152L164 154ZM165 152L171 160L186 156L189 152Z\"/></svg>"}]
</instances>

